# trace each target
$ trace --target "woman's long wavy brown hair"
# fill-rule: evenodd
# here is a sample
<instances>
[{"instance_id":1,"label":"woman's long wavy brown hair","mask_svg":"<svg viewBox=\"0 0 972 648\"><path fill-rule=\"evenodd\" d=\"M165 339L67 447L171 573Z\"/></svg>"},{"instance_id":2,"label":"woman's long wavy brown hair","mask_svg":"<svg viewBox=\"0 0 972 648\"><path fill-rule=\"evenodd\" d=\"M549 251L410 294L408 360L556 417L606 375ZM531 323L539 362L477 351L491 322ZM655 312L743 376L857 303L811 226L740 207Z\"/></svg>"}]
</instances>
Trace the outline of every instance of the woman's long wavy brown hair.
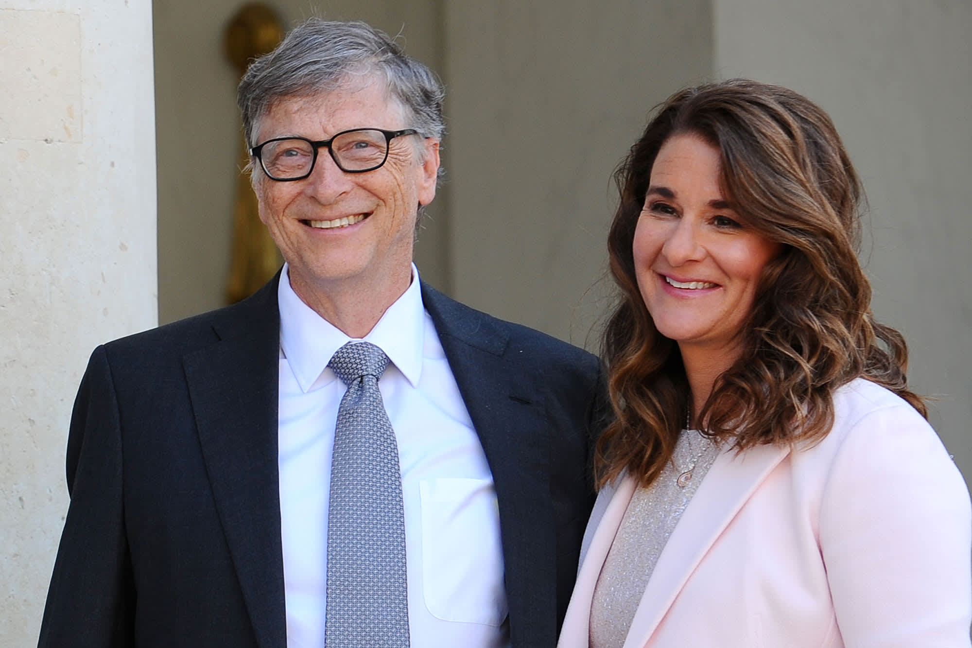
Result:
<instances>
[{"instance_id":1,"label":"woman's long wavy brown hair","mask_svg":"<svg viewBox=\"0 0 972 648\"><path fill-rule=\"evenodd\" d=\"M871 312L856 255L863 191L830 118L779 86L736 79L690 88L658 108L614 173L621 201L608 251L621 295L604 355L616 417L597 444L599 486L622 471L649 485L671 460L690 403L677 343L655 328L632 256L651 166L682 133L721 151L723 192L749 227L782 243L757 288L742 355L698 414L706 434L737 450L814 443L833 424L834 390L858 377L926 415L908 389L904 339Z\"/></svg>"}]
</instances>

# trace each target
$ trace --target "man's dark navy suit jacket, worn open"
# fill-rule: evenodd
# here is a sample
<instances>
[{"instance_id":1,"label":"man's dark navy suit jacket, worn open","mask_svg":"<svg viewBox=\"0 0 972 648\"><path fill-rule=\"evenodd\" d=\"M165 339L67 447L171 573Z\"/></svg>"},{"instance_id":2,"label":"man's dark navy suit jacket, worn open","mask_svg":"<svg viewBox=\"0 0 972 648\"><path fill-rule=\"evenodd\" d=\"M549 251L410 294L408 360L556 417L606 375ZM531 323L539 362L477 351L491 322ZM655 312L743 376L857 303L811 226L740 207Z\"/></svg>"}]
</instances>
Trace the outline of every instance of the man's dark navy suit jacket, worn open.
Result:
<instances>
[{"instance_id":1,"label":"man's dark navy suit jacket, worn open","mask_svg":"<svg viewBox=\"0 0 972 648\"><path fill-rule=\"evenodd\" d=\"M91 355L40 646L285 648L279 276ZM496 483L513 645L553 646L593 504L600 365L427 285L422 296Z\"/></svg>"}]
</instances>

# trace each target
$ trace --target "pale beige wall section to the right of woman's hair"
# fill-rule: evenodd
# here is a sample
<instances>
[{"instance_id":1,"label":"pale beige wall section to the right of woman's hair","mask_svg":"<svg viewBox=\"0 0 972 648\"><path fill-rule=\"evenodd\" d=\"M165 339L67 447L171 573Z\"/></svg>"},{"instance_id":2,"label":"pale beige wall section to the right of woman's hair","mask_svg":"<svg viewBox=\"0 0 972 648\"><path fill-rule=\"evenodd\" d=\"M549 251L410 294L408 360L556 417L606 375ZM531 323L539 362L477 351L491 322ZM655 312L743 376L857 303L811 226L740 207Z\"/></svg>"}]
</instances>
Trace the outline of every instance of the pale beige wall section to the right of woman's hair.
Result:
<instances>
[{"instance_id":1,"label":"pale beige wall section to the right of woman's hair","mask_svg":"<svg viewBox=\"0 0 972 648\"><path fill-rule=\"evenodd\" d=\"M715 67L803 92L833 118L870 201L862 261L909 378L972 482L972 4L714 2Z\"/></svg>"}]
</instances>

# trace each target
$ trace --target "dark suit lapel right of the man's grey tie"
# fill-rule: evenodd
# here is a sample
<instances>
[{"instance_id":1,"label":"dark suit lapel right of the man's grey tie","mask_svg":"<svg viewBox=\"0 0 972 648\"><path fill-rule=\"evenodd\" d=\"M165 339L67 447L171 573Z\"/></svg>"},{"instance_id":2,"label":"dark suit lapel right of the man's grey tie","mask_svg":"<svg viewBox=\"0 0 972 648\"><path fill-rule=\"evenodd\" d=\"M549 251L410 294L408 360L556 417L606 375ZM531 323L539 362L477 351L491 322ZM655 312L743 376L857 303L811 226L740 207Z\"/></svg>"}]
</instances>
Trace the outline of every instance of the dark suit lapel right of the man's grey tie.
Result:
<instances>
[{"instance_id":1,"label":"dark suit lapel right of the man's grey tie","mask_svg":"<svg viewBox=\"0 0 972 648\"><path fill-rule=\"evenodd\" d=\"M549 423L537 380L509 360L509 333L499 320L426 284L422 297L493 473L512 642L552 645L556 600L536 593L536 584L555 583L557 573Z\"/></svg>"}]
</instances>

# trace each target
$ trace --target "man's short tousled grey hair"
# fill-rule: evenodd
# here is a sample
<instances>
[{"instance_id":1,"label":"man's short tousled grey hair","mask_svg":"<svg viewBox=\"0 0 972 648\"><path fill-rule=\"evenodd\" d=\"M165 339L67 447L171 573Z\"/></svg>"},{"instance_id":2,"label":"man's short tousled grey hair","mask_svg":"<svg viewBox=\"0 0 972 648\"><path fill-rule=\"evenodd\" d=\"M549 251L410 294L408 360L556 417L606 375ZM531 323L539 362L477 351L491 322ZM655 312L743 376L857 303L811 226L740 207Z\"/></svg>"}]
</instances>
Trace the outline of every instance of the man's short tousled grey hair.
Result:
<instances>
[{"instance_id":1,"label":"man's short tousled grey hair","mask_svg":"<svg viewBox=\"0 0 972 648\"><path fill-rule=\"evenodd\" d=\"M404 109L409 124L425 137L445 132L445 91L434 72L406 56L383 31L366 22L309 18L270 54L247 69L236 93L247 146L255 146L260 118L283 97L339 90L351 77L380 75ZM380 125L375 125L380 126Z\"/></svg>"}]
</instances>

